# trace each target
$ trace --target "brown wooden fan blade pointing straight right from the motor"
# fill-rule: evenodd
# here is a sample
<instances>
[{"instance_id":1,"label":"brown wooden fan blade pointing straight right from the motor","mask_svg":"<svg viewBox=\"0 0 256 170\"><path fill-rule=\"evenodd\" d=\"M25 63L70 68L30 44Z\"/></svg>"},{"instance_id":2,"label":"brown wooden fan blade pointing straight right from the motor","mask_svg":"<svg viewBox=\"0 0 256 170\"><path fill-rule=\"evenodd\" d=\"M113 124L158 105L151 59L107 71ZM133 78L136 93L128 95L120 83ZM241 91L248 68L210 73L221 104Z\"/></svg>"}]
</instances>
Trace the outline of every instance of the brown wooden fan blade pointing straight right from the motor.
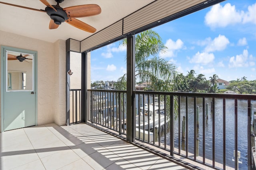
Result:
<instances>
[{"instance_id":1,"label":"brown wooden fan blade pointing straight right from the motor","mask_svg":"<svg viewBox=\"0 0 256 170\"><path fill-rule=\"evenodd\" d=\"M68 17L71 18L95 16L101 13L100 6L96 4L70 6L63 10L66 11Z\"/></svg>"}]
</instances>

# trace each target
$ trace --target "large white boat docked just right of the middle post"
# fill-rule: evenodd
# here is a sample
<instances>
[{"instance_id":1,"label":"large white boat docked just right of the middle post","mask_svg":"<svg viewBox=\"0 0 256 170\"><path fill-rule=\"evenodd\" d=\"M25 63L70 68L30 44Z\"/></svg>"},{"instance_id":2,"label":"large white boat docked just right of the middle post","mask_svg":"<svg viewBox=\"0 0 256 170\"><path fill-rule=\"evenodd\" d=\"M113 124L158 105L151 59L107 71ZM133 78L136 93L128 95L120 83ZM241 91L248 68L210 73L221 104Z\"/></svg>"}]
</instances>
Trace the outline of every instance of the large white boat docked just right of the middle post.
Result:
<instances>
[{"instance_id":1,"label":"large white boat docked just right of the middle post","mask_svg":"<svg viewBox=\"0 0 256 170\"><path fill-rule=\"evenodd\" d=\"M153 112L153 109L154 109L154 112ZM140 113L139 113L140 115L136 115L136 128L143 129L144 127L144 130L148 130L148 124L149 124L149 129L153 129L154 126L155 127L158 126L159 113L160 113L160 124L162 124L164 122L163 110L164 110L164 104L160 104L160 106L155 105L154 107L152 104L150 104L149 107L148 106L140 107ZM148 117L149 117L149 122L148 122Z\"/></svg>"}]
</instances>

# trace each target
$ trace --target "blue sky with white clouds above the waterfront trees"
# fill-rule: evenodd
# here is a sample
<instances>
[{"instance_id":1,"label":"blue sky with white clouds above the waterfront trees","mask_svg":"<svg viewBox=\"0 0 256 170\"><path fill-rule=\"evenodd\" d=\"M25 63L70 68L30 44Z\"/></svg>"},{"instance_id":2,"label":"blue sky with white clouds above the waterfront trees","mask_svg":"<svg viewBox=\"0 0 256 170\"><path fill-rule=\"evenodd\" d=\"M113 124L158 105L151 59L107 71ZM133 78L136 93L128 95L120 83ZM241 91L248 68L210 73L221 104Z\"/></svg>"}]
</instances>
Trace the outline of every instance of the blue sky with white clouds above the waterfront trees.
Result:
<instances>
[{"instance_id":1,"label":"blue sky with white clouds above the waterfront trees","mask_svg":"<svg viewBox=\"0 0 256 170\"><path fill-rule=\"evenodd\" d=\"M159 56L186 75L195 70L230 81L256 80L256 0L227 0L153 28L168 47ZM91 80L117 80L126 73L119 42L91 52Z\"/></svg>"}]
</instances>

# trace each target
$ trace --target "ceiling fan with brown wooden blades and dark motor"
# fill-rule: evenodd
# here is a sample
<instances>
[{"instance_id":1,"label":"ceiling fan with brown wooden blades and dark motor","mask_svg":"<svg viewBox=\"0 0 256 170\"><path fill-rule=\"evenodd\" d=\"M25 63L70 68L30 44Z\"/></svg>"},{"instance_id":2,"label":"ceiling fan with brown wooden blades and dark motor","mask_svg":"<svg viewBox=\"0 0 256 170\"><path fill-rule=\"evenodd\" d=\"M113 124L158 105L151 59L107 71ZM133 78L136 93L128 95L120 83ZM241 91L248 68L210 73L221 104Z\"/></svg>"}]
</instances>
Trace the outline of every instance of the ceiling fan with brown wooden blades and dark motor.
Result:
<instances>
[{"instance_id":1,"label":"ceiling fan with brown wooden blades and dark motor","mask_svg":"<svg viewBox=\"0 0 256 170\"><path fill-rule=\"evenodd\" d=\"M96 4L86 4L86 5L78 5L78 6L70 6L67 8L61 8L59 3L64 0L55 0L57 5L51 5L47 0L40 0L44 5L46 5L45 10L38 10L35 8L29 8L26 6L20 6L16 4L9 4L6 2L0 2L1 4L6 4L10 6L16 6L20 8L25 8L29 10L35 10L39 12L46 12L48 16L50 16L50 24L49 29L56 29L62 22L69 23L70 25L82 29L84 31L94 33L96 28L84 23L76 18L95 16L101 13L100 6Z\"/></svg>"}]
</instances>

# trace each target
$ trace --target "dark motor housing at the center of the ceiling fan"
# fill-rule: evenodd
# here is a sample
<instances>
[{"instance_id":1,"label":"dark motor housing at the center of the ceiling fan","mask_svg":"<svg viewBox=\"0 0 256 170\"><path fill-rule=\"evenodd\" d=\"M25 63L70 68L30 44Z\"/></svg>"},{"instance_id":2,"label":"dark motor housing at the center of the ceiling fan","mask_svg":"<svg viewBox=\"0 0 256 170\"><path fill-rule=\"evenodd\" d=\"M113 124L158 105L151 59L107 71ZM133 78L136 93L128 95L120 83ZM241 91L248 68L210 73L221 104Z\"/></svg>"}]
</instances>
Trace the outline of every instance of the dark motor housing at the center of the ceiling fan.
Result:
<instances>
[{"instance_id":1,"label":"dark motor housing at the center of the ceiling fan","mask_svg":"<svg viewBox=\"0 0 256 170\"><path fill-rule=\"evenodd\" d=\"M55 5L53 5L53 7L57 10L57 12L48 6L45 8L45 10L48 16L50 16L50 18L54 20L54 23L56 23L57 25L60 25L62 22L68 20L68 15L63 10L63 8Z\"/></svg>"}]
</instances>

